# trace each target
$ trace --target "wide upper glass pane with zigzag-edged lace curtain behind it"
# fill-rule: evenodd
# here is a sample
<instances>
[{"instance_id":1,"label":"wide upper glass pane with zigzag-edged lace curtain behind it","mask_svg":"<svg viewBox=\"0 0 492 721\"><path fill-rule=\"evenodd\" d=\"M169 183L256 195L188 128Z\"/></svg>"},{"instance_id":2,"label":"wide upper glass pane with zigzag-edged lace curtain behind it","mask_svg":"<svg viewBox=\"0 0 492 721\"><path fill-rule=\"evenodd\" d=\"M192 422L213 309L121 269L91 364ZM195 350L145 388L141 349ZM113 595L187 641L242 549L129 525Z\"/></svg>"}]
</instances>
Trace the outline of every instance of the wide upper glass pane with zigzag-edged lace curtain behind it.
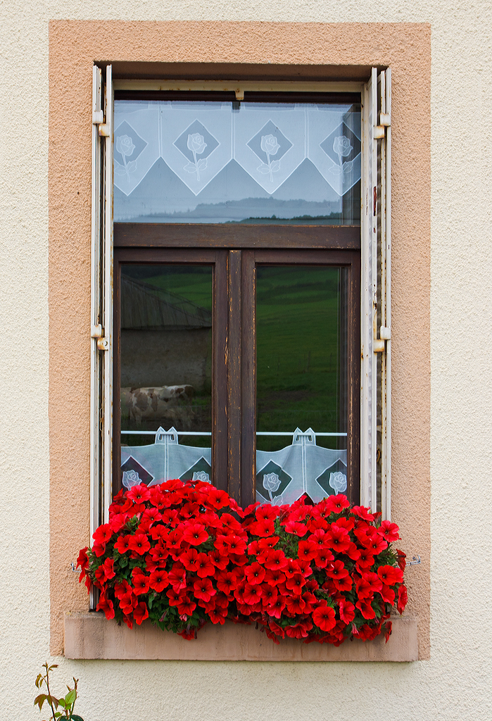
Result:
<instances>
[{"instance_id":1,"label":"wide upper glass pane with zigzag-edged lace curtain behind it","mask_svg":"<svg viewBox=\"0 0 492 721\"><path fill-rule=\"evenodd\" d=\"M359 224L360 105L115 102L117 222Z\"/></svg>"}]
</instances>

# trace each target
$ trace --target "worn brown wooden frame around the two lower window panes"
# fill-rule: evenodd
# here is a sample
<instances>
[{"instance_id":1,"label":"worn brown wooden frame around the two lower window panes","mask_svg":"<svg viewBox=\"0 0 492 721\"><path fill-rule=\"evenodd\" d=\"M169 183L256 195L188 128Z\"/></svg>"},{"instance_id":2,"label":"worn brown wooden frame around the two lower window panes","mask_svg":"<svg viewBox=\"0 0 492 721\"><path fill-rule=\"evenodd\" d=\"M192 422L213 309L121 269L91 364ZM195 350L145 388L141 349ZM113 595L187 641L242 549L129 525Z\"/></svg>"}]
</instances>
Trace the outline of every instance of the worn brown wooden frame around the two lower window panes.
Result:
<instances>
[{"instance_id":1,"label":"worn brown wooden frame around the two lower window panes","mask_svg":"<svg viewBox=\"0 0 492 721\"><path fill-rule=\"evenodd\" d=\"M120 268L124 263L202 263L214 267L213 433L215 485L245 506L255 500L255 267L336 265L348 269L347 494L359 501L360 227L215 224L114 226L113 458L120 458ZM113 464L113 492L121 487Z\"/></svg>"}]
</instances>

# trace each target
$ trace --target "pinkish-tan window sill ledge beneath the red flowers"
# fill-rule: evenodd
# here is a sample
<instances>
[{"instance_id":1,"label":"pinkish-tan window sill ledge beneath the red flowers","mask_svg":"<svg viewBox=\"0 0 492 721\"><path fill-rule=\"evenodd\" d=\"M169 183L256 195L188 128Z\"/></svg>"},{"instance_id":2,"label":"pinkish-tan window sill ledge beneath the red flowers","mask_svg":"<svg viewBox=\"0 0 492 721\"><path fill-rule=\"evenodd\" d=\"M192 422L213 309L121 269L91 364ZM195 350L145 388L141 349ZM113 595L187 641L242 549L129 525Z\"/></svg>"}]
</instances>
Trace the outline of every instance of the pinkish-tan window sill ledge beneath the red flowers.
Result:
<instances>
[{"instance_id":1,"label":"pinkish-tan window sill ledge beneath the red flowers","mask_svg":"<svg viewBox=\"0 0 492 721\"><path fill-rule=\"evenodd\" d=\"M198 638L185 641L144 622L130 631L101 613L65 615L66 658L209 661L416 661L419 658L415 619L394 618L393 633L374 641L346 641L341 646L304 644L285 639L274 644L251 626L207 624Z\"/></svg>"}]
</instances>

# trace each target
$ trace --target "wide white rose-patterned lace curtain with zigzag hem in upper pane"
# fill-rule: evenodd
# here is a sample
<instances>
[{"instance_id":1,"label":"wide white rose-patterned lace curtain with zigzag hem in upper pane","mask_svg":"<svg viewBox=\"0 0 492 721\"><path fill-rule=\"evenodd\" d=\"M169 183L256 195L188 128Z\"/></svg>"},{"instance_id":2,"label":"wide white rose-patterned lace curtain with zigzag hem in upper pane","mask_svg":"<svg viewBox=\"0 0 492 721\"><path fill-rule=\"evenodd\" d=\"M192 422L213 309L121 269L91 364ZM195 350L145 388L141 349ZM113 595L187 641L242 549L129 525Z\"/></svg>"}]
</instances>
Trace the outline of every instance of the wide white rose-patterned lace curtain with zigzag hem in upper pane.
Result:
<instances>
[{"instance_id":1,"label":"wide white rose-patterned lace curtain with zigzag hem in upper pane","mask_svg":"<svg viewBox=\"0 0 492 721\"><path fill-rule=\"evenodd\" d=\"M159 158L194 195L235 160L272 194L309 159L337 195L360 179L350 105L115 102L115 186L130 195Z\"/></svg>"}]
</instances>

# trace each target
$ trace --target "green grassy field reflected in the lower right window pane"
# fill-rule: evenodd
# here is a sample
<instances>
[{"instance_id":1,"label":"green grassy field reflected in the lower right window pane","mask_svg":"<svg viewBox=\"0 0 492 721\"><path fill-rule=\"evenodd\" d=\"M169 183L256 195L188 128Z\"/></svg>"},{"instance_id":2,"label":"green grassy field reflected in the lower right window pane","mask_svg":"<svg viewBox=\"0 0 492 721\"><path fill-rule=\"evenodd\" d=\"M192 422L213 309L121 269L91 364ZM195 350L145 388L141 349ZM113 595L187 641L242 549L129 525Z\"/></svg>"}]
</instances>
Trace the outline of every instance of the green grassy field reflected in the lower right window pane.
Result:
<instances>
[{"instance_id":1,"label":"green grassy field reflected in the lower right window pane","mask_svg":"<svg viewBox=\"0 0 492 721\"><path fill-rule=\"evenodd\" d=\"M339 430L338 288L337 268L259 267L257 430ZM257 439L265 451L288 443L278 436ZM336 447L334 438L317 443Z\"/></svg>"}]
</instances>

